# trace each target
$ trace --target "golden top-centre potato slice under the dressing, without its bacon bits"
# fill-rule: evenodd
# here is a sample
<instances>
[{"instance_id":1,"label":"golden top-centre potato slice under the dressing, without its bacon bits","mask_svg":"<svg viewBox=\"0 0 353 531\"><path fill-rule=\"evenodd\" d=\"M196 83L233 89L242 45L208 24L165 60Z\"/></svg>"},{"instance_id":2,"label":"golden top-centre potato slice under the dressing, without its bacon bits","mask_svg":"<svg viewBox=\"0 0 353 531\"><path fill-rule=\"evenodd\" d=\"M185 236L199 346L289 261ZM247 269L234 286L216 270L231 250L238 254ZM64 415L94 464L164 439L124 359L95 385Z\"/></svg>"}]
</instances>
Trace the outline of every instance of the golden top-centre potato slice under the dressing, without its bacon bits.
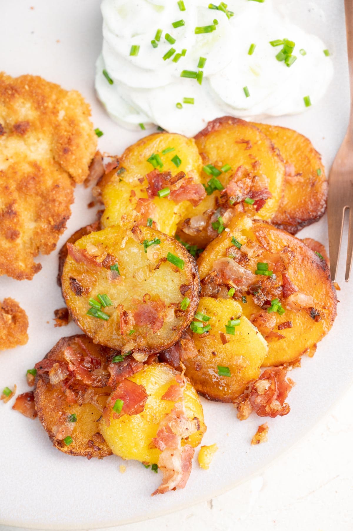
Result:
<instances>
[{"instance_id":1,"label":"golden top-centre potato slice under the dressing, without its bacon bits","mask_svg":"<svg viewBox=\"0 0 353 531\"><path fill-rule=\"evenodd\" d=\"M239 178L239 182L244 183L244 189L248 186L246 183L250 183L250 187L253 189L256 187L257 177L261 177L261 182L264 178L265 187L270 192L270 197L265 200L264 204L261 206L257 203L254 205L244 203L244 198L239 205L244 207L245 211L250 213L252 217L270 220L277 211L282 198L285 177L285 165L270 139L251 123L239 118L223 116L210 122L205 129L195 136L195 141L203 164L211 164L216 167L220 172L217 179L224 188L235 177ZM221 168L226 165L229 165L230 169L222 172ZM240 167L244 168L244 172L239 172L238 168ZM207 186L212 175L202 171L201 177L203 184ZM239 190L242 190L242 186ZM223 194L222 198L224 197ZM256 198L256 196L254 197ZM238 203L236 197L233 199L235 203ZM189 218L195 219L196 216L204 216L205 212L214 212L220 206L222 207L222 203L221 191L215 190L211 195L206 196L196 208L188 207L184 220L178 226L177 234L180 238L203 249L217 236L217 232L212 232L212 228L208 226L206 228L200 227L201 230L198 229L199 232L193 234L188 220ZM232 209L231 203L228 203L229 201L223 208L223 211L227 209L228 221L226 225L229 222L229 212ZM260 207L259 210L257 210L258 207ZM235 205L233 210L236 211L238 208ZM212 221L217 221L217 215Z\"/></svg>"}]
</instances>

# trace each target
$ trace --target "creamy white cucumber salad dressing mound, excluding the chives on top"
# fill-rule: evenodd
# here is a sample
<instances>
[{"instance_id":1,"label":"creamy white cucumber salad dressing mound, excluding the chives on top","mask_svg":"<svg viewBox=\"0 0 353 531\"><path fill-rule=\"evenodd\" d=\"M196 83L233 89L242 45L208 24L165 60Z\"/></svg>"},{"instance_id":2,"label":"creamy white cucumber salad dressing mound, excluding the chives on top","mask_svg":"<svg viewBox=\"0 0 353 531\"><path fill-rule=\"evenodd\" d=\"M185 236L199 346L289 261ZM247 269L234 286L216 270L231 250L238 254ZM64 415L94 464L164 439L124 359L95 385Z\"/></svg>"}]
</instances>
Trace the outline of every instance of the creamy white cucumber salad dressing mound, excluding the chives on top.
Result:
<instances>
[{"instance_id":1,"label":"creamy white cucumber salad dressing mound, excluding the chives on top","mask_svg":"<svg viewBox=\"0 0 353 531\"><path fill-rule=\"evenodd\" d=\"M272 0L228 0L228 9L234 12L230 19L210 10L207 1L184 4L186 10L180 11L177 0L102 1L104 41L96 65L96 90L119 124L133 129L156 124L193 136L222 115L259 119L296 114L307 109L305 96L314 105L324 95L333 75L331 58L323 52L326 46L284 18ZM171 23L181 19L185 25L174 28ZM195 34L195 27L210 25L213 19L218 21L216 30ZM153 48L158 29L162 37ZM174 44L165 39L166 33L176 39ZM269 44L283 38L295 42L292 53L297 60L290 67L275 58L282 46ZM248 55L252 43L256 48ZM133 45L140 46L137 56L130 55ZM175 54L163 61L171 48L175 53L186 49L186 55L177 63ZM202 84L181 78L183 70L200 70L200 57L206 58ZM102 74L104 69L113 84ZM184 104L184 98L194 98L194 104ZM182 109L176 107L178 102Z\"/></svg>"}]
</instances>

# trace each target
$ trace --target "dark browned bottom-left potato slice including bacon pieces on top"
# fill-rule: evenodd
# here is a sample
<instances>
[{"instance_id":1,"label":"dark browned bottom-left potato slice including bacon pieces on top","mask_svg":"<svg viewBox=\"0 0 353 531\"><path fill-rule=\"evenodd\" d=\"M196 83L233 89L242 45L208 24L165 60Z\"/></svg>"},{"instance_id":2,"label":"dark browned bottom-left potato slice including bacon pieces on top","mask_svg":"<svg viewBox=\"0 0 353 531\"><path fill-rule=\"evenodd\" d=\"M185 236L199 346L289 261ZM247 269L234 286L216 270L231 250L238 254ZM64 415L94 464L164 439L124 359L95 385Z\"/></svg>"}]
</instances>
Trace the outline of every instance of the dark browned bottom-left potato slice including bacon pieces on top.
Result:
<instances>
[{"instance_id":1,"label":"dark browned bottom-left potato slice including bacon pieces on top","mask_svg":"<svg viewBox=\"0 0 353 531\"><path fill-rule=\"evenodd\" d=\"M38 417L58 450L88 458L111 454L97 422L111 392L107 387L111 354L87 336L76 335L60 339L36 364Z\"/></svg>"}]
</instances>

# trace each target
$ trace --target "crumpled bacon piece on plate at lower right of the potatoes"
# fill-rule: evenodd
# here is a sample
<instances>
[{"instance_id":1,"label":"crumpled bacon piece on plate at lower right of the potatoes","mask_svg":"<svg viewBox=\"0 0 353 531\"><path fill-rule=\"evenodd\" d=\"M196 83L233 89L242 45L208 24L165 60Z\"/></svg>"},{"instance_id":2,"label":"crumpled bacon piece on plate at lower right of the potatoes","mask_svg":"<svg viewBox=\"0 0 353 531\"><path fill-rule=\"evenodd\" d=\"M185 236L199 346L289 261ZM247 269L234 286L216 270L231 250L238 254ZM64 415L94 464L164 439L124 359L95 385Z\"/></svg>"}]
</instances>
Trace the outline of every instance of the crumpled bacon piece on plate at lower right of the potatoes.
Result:
<instances>
[{"instance_id":1,"label":"crumpled bacon piece on plate at lower right of the potatoes","mask_svg":"<svg viewBox=\"0 0 353 531\"><path fill-rule=\"evenodd\" d=\"M285 400L294 382L290 378L287 380L287 371L283 367L266 369L252 384L249 403L260 417L277 417L290 412Z\"/></svg>"}]
</instances>

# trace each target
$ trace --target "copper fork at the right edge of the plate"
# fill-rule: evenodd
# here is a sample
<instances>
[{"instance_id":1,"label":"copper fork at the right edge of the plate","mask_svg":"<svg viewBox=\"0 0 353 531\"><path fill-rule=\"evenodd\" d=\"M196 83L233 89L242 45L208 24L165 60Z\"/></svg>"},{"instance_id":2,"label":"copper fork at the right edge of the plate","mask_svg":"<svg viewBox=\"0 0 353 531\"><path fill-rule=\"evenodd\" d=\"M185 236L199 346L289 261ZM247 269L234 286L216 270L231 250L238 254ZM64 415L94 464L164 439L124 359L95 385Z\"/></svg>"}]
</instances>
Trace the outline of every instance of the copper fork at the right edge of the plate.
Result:
<instances>
[{"instance_id":1,"label":"copper fork at the right edge of the plate","mask_svg":"<svg viewBox=\"0 0 353 531\"><path fill-rule=\"evenodd\" d=\"M333 161L329 176L328 224L331 277L337 275L343 223L349 210L346 282L353 257L353 0L345 0L347 48L350 84L350 116L348 130Z\"/></svg>"}]
</instances>

